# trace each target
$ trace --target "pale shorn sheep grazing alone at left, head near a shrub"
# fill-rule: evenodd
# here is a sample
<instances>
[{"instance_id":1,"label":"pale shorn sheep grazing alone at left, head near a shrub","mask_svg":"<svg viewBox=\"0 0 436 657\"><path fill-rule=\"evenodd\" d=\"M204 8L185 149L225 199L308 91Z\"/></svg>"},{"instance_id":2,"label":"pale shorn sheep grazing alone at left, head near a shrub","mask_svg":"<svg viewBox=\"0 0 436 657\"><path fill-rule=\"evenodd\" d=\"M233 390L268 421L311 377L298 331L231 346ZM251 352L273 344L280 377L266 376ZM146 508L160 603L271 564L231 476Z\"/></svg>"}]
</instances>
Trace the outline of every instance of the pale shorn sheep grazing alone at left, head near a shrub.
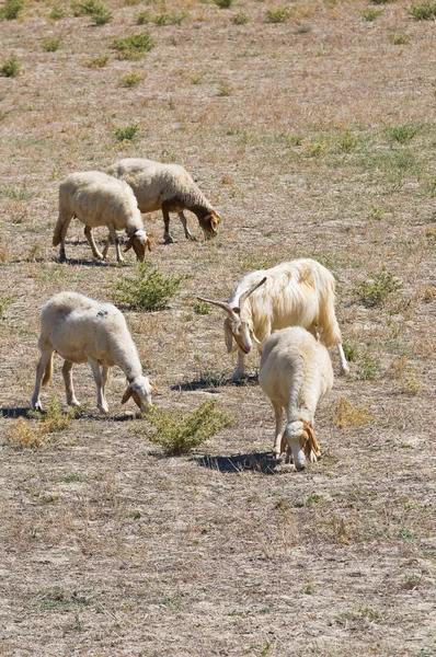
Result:
<instances>
[{"instance_id":1,"label":"pale shorn sheep grazing alone at left, head near a shrub","mask_svg":"<svg viewBox=\"0 0 436 657\"><path fill-rule=\"evenodd\" d=\"M67 403L79 406L72 385L73 364L89 362L97 390L97 406L108 413L104 389L108 368L117 365L126 374L128 387L123 395L125 404L130 396L142 412L151 406L151 391L156 385L142 376L142 367L124 315L112 303L100 303L77 292L54 295L43 307L41 315L39 350L36 383L32 396L33 408L41 411L41 384L53 374L53 354L65 359L62 374Z\"/></svg>"}]
</instances>

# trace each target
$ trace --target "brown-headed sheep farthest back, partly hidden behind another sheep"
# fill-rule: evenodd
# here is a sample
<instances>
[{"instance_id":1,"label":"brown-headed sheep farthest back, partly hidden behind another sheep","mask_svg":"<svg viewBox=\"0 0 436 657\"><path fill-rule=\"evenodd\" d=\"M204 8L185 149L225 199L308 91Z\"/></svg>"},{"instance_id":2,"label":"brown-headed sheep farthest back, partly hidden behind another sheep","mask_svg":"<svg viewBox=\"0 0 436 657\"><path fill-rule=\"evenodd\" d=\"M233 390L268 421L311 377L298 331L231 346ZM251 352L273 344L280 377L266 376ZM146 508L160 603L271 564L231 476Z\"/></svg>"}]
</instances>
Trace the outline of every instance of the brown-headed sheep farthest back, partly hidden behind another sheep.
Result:
<instances>
[{"instance_id":1,"label":"brown-headed sheep farthest back, partly hidden behind another sheep","mask_svg":"<svg viewBox=\"0 0 436 657\"><path fill-rule=\"evenodd\" d=\"M106 172L130 185L141 212L162 210L165 244L174 241L170 234L170 212L177 212L186 239L195 241L187 228L183 210L191 210L196 215L206 239L216 237L220 218L187 171L180 164L126 158L115 162L106 169Z\"/></svg>"}]
</instances>

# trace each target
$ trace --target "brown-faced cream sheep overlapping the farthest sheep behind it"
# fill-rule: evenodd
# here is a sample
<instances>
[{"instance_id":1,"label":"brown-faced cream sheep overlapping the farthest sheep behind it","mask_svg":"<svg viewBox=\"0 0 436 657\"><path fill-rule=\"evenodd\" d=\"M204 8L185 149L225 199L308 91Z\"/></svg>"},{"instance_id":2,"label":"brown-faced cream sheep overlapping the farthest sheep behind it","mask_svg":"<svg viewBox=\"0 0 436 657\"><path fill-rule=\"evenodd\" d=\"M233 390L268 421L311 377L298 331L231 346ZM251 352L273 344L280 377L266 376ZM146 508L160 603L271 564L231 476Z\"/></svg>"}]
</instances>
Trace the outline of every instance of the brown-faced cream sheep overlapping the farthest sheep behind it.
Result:
<instances>
[{"instance_id":1,"label":"brown-faced cream sheep overlapping the farthest sheep behind it","mask_svg":"<svg viewBox=\"0 0 436 657\"><path fill-rule=\"evenodd\" d=\"M116 260L123 262L117 230L125 230L128 241L125 251L134 249L144 261L150 239L147 237L141 214L131 188L123 181L100 171L83 171L69 175L59 186L59 218L53 235L53 245L60 244L59 257L65 261L65 238L73 217L84 223L84 234L94 257L104 260L111 241L115 244ZM107 226L110 234L103 253L92 237L92 228Z\"/></svg>"}]
</instances>

